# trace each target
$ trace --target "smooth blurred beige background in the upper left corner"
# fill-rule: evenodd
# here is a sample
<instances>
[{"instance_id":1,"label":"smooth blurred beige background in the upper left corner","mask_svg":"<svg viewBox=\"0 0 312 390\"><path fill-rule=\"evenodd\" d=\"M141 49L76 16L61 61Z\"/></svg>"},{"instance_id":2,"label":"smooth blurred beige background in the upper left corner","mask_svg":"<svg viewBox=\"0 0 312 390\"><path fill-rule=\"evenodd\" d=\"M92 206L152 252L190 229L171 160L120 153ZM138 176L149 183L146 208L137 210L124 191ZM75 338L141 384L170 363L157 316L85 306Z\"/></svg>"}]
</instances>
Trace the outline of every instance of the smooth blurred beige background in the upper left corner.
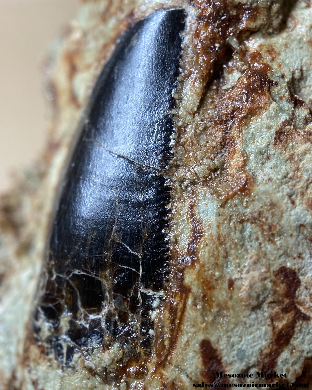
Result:
<instances>
[{"instance_id":1,"label":"smooth blurred beige background in the upper left corner","mask_svg":"<svg viewBox=\"0 0 312 390\"><path fill-rule=\"evenodd\" d=\"M41 65L77 6L78 0L0 0L0 192L43 148L48 115Z\"/></svg>"}]
</instances>

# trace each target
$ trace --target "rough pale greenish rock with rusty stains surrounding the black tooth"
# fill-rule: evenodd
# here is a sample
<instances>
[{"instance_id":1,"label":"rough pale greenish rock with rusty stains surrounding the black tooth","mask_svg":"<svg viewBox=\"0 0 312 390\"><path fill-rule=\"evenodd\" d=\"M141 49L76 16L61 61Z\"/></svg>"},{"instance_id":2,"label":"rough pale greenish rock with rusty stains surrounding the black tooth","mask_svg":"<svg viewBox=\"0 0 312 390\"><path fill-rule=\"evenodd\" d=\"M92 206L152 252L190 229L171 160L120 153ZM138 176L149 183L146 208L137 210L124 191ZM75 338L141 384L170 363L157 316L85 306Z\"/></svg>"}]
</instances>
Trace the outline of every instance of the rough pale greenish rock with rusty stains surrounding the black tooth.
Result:
<instances>
[{"instance_id":1,"label":"rough pale greenish rock with rusty stains surrounding the black tooth","mask_svg":"<svg viewBox=\"0 0 312 390\"><path fill-rule=\"evenodd\" d=\"M188 17L175 94L170 282L153 314L153 353L108 383L103 372L122 346L86 350L65 368L33 341L28 318L56 186L96 76L122 31L172 7ZM310 383L311 28L308 0L83 2L47 63L46 151L1 199L3 388L188 389L220 370Z\"/></svg>"}]
</instances>

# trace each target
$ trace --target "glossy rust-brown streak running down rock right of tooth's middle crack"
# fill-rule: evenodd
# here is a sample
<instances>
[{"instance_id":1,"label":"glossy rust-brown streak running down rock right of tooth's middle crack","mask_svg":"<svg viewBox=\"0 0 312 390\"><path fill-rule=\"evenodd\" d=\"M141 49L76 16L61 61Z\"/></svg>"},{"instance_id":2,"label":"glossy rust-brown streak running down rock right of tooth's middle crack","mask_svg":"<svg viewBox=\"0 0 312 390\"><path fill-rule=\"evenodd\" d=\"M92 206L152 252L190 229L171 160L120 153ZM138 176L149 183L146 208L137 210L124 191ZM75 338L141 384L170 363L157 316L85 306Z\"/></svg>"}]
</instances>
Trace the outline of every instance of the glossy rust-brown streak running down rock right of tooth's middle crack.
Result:
<instances>
[{"instance_id":1,"label":"glossy rust-brown streak running down rock right of tooth's middle crack","mask_svg":"<svg viewBox=\"0 0 312 390\"><path fill-rule=\"evenodd\" d=\"M225 163L220 175L209 178L211 195L226 202L234 196L248 195L254 186L253 177L245 172L246 156L242 151L243 123L256 117L271 102L269 89L274 82L262 68L248 69L235 87L219 92L214 128L223 129L222 154ZM220 151L220 152L221 152Z\"/></svg>"}]
</instances>

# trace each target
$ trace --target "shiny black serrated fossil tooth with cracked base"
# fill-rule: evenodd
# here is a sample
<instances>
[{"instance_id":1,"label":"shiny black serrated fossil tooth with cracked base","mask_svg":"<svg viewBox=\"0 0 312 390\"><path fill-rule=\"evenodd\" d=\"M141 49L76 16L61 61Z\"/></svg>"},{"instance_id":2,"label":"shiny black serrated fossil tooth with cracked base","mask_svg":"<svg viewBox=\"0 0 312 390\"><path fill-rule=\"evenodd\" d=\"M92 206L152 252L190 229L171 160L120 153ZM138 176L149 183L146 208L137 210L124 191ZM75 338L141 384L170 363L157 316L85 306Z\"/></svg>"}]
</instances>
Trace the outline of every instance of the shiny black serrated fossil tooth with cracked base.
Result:
<instances>
[{"instance_id":1,"label":"shiny black serrated fossil tooth with cracked base","mask_svg":"<svg viewBox=\"0 0 312 390\"><path fill-rule=\"evenodd\" d=\"M167 277L170 188L161 172L170 156L169 111L184 18L180 9L156 11L122 35L80 126L51 228L37 311L50 324L51 349L64 363L74 348L109 346L112 337L137 334L135 321L144 328L136 343L151 349L153 324L145 306L151 307L152 296L140 289L159 291ZM95 316L103 308L101 322ZM63 313L71 316L67 351L57 349Z\"/></svg>"}]
</instances>

